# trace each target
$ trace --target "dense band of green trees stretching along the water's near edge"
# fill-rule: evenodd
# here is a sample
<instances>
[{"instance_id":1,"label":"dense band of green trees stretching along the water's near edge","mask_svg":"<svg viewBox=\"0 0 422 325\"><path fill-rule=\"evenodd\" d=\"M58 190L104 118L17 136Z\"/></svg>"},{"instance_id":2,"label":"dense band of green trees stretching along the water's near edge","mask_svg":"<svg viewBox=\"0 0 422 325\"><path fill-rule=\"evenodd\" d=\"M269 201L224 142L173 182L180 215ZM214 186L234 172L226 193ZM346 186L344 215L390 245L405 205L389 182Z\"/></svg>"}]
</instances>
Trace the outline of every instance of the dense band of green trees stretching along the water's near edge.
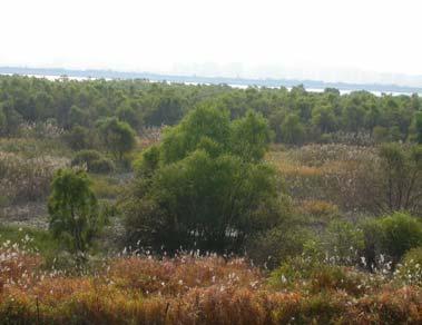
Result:
<instances>
[{"instance_id":1,"label":"dense band of green trees stretching along the water's near edge","mask_svg":"<svg viewBox=\"0 0 422 325\"><path fill-rule=\"evenodd\" d=\"M422 141L422 99L418 95L377 97L367 91L340 95L336 89L307 92L302 86L288 91L283 87L235 89L16 76L0 78L0 132L11 136L22 122L49 121L65 129L70 142L71 136L78 138L81 146L80 139L91 138L90 130L101 119L116 117L139 131L175 125L203 102L228 110L233 119L249 109L261 112L277 142ZM92 146L88 142L82 146Z\"/></svg>"}]
</instances>

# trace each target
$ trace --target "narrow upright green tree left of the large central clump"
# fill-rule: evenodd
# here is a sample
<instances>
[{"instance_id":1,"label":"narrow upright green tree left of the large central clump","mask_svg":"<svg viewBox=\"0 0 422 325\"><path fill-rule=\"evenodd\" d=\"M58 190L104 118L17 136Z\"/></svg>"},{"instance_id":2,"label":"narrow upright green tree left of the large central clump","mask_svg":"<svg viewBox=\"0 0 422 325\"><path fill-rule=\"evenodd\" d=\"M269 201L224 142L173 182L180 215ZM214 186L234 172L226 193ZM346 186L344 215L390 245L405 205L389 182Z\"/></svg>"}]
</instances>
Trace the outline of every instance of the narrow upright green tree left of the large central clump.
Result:
<instances>
[{"instance_id":1,"label":"narrow upright green tree left of the large central clump","mask_svg":"<svg viewBox=\"0 0 422 325\"><path fill-rule=\"evenodd\" d=\"M97 198L81 170L60 169L48 201L50 230L66 248L80 255L88 250L101 228Z\"/></svg>"}]
</instances>

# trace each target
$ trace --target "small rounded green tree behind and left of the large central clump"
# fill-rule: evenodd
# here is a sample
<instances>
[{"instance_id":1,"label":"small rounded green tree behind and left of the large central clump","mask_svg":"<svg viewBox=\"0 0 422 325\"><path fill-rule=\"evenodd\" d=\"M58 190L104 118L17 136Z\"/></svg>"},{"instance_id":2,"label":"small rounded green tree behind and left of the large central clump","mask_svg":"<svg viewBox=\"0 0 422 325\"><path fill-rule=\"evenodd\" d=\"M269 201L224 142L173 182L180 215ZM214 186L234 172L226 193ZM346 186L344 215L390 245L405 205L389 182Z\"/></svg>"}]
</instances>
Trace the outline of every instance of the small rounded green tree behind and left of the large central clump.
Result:
<instances>
[{"instance_id":1,"label":"small rounded green tree behind and left of the large central clump","mask_svg":"<svg viewBox=\"0 0 422 325\"><path fill-rule=\"evenodd\" d=\"M106 118L98 122L98 130L106 149L116 159L122 160L124 155L135 148L135 131L127 122L115 117Z\"/></svg>"}]
</instances>

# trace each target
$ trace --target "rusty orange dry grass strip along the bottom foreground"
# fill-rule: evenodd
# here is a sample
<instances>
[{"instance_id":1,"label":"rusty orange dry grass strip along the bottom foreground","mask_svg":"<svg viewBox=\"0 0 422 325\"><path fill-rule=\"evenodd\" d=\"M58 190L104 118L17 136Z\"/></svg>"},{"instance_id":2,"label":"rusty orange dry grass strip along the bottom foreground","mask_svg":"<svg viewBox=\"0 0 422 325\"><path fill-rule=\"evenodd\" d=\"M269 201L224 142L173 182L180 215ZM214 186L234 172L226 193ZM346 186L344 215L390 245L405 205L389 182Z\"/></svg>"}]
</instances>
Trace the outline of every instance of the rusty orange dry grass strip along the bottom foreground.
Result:
<instances>
[{"instance_id":1,"label":"rusty orange dry grass strip along the bottom foreground","mask_svg":"<svg viewBox=\"0 0 422 325\"><path fill-rule=\"evenodd\" d=\"M3 248L4 249L9 249ZM418 324L422 292L386 282L356 295L272 287L245 259L183 255L115 257L95 273L40 270L38 255L2 255L0 317L39 324ZM16 252L17 254L11 254ZM19 266L19 267L18 267ZM349 273L347 273L349 276ZM352 276L352 275L351 275ZM353 275L356 276L356 275ZM364 275L360 275L363 277ZM19 280L27 277L30 280ZM320 275L320 282L324 279ZM11 279L14 279L13 282ZM24 284L24 285L22 285Z\"/></svg>"}]
</instances>

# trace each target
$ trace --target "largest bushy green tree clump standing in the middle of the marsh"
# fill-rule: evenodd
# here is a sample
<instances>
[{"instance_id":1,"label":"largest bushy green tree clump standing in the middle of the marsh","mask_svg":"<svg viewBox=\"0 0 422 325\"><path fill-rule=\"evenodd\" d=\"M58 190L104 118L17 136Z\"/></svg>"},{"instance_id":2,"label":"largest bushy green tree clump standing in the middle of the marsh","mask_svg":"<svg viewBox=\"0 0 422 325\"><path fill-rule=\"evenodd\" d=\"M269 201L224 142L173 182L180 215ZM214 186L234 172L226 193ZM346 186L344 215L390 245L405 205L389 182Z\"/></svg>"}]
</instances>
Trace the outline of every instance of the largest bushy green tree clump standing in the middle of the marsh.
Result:
<instances>
[{"instance_id":1,"label":"largest bushy green tree clump standing in the middle of the marsh","mask_svg":"<svg viewBox=\"0 0 422 325\"><path fill-rule=\"evenodd\" d=\"M267 140L265 120L252 112L230 124L213 107L193 110L136 164L137 187L125 204L129 239L170 250L238 250L276 225L275 170L259 161Z\"/></svg>"}]
</instances>

